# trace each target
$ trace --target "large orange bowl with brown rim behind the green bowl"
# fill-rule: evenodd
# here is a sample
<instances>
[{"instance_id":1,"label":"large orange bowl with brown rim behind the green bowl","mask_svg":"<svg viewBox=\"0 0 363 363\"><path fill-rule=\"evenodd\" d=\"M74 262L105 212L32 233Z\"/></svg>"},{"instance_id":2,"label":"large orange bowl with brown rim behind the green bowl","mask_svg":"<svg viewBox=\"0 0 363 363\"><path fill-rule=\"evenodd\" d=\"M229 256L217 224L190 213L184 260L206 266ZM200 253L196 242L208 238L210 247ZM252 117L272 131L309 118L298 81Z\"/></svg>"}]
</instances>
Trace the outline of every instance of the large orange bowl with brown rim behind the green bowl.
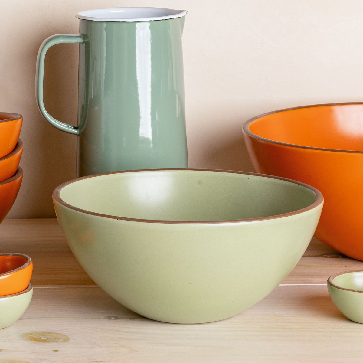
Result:
<instances>
[{"instance_id":1,"label":"large orange bowl with brown rim behind the green bowl","mask_svg":"<svg viewBox=\"0 0 363 363\"><path fill-rule=\"evenodd\" d=\"M323 193L315 237L363 260L363 103L278 110L250 119L242 129L258 172Z\"/></svg>"}]
</instances>

